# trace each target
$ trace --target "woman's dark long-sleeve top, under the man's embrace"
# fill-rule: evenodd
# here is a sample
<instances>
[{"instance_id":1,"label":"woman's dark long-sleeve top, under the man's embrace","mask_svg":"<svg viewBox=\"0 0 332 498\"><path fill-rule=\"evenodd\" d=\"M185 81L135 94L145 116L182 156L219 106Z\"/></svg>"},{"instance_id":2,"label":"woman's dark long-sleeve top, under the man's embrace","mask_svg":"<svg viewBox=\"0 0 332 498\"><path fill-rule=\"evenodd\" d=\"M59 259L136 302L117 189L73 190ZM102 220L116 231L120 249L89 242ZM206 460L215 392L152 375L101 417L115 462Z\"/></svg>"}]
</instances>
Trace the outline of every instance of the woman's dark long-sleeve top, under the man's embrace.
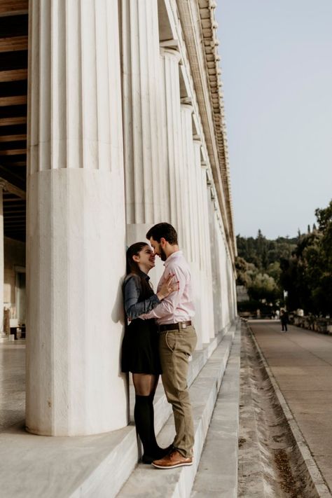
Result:
<instances>
[{"instance_id":1,"label":"woman's dark long-sleeve top, under the man's embrace","mask_svg":"<svg viewBox=\"0 0 332 498\"><path fill-rule=\"evenodd\" d=\"M150 277L141 272L141 276L148 281ZM123 284L123 295L125 299L125 312L130 320L138 318L139 315L148 313L160 303L158 296L151 289L151 296L142 298L141 279L138 275L130 274L125 277Z\"/></svg>"}]
</instances>

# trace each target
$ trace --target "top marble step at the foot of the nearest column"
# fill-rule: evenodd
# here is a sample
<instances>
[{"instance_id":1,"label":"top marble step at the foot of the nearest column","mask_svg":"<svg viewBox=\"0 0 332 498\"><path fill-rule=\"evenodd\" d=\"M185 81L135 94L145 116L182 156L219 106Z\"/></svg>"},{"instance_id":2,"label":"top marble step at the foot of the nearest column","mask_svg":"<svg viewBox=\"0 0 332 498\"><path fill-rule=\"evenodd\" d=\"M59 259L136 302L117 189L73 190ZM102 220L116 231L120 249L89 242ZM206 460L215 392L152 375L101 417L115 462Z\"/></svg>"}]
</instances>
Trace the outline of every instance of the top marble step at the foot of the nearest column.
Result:
<instances>
[{"instance_id":1,"label":"top marble step at the foot of the nearest column","mask_svg":"<svg viewBox=\"0 0 332 498\"><path fill-rule=\"evenodd\" d=\"M189 365L189 384L204 370L219 343L223 350L229 350L234 330L219 333L202 351L195 352ZM157 432L170 411L159 386L155 399ZM1 498L112 498L130 477L138 459L132 422L118 431L72 438L35 436L18 424L0 434Z\"/></svg>"}]
</instances>

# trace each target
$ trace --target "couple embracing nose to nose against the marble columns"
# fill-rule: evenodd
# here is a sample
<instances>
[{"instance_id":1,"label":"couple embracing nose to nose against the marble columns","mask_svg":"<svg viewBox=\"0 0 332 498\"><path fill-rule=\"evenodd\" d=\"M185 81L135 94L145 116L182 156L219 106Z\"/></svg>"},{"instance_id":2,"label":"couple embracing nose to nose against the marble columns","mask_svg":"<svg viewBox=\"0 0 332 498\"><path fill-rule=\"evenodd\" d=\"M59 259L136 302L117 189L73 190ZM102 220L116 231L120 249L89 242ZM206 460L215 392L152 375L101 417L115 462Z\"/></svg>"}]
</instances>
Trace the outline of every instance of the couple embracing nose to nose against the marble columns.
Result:
<instances>
[{"instance_id":1,"label":"couple embracing nose to nose against the marble columns","mask_svg":"<svg viewBox=\"0 0 332 498\"><path fill-rule=\"evenodd\" d=\"M197 337L191 323L195 314L191 272L172 225L158 223L148 230L146 238L151 246L137 242L127 249L123 293L130 324L123 338L121 367L123 372L132 372L134 420L144 448L142 462L157 469L174 469L193 463L187 374ZM156 255L164 261L165 270L154 293L148 272L155 266ZM160 374L167 401L172 404L176 431L168 448L158 446L154 430L153 397Z\"/></svg>"}]
</instances>

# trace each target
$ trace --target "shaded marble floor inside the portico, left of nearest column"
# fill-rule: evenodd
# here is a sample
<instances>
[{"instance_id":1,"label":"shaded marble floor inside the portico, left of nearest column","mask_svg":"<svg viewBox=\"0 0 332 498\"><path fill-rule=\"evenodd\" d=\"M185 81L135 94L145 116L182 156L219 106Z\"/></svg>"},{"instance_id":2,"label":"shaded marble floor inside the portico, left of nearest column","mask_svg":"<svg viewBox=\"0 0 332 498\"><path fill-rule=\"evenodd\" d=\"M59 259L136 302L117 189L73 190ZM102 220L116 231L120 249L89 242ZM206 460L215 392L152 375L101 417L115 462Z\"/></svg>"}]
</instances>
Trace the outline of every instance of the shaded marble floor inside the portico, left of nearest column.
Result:
<instances>
[{"instance_id":1,"label":"shaded marble floor inside the portico, left of nearest column","mask_svg":"<svg viewBox=\"0 0 332 498\"><path fill-rule=\"evenodd\" d=\"M0 343L0 431L25 420L25 342Z\"/></svg>"}]
</instances>

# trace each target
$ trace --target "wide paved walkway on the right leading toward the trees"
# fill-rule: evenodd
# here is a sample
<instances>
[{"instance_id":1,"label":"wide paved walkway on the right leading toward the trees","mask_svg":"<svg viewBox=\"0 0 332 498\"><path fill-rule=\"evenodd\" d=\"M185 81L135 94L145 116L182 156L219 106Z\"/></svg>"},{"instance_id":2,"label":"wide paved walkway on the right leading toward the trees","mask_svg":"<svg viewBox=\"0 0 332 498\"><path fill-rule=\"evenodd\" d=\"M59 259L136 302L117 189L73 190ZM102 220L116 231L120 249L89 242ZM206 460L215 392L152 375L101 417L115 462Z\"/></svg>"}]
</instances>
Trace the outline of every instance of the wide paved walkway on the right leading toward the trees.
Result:
<instances>
[{"instance_id":1,"label":"wide paved walkway on the right leading toward the trees","mask_svg":"<svg viewBox=\"0 0 332 498\"><path fill-rule=\"evenodd\" d=\"M332 336L249 321L293 417L332 490Z\"/></svg>"}]
</instances>

